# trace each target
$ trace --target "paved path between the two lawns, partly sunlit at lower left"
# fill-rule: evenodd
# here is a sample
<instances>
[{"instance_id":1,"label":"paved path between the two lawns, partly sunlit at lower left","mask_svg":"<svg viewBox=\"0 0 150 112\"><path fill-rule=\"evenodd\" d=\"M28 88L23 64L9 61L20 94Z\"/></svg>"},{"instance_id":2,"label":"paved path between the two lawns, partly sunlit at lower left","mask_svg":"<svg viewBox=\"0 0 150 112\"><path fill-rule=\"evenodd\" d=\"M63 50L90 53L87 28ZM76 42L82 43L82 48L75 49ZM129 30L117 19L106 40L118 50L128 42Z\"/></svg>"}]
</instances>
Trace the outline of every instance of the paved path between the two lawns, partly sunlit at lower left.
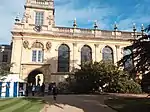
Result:
<instances>
[{"instance_id":1,"label":"paved path between the two lawns, partly sunlit at lower left","mask_svg":"<svg viewBox=\"0 0 150 112\"><path fill-rule=\"evenodd\" d=\"M60 95L57 101L45 97L48 102L41 112L116 112L104 104L104 95Z\"/></svg>"}]
</instances>

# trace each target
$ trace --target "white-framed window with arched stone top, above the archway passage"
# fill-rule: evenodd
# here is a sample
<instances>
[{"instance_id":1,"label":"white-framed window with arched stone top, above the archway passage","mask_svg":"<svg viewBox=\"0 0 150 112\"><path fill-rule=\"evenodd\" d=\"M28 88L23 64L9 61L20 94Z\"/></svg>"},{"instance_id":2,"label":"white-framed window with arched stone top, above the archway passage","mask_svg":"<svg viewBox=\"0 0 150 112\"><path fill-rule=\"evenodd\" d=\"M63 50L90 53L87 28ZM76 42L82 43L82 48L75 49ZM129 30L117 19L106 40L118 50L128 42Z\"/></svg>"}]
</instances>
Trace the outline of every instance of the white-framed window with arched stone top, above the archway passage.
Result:
<instances>
[{"instance_id":1,"label":"white-framed window with arched stone top, above the archway passage","mask_svg":"<svg viewBox=\"0 0 150 112\"><path fill-rule=\"evenodd\" d=\"M40 42L34 42L32 45L32 62L43 62L44 45Z\"/></svg>"}]
</instances>

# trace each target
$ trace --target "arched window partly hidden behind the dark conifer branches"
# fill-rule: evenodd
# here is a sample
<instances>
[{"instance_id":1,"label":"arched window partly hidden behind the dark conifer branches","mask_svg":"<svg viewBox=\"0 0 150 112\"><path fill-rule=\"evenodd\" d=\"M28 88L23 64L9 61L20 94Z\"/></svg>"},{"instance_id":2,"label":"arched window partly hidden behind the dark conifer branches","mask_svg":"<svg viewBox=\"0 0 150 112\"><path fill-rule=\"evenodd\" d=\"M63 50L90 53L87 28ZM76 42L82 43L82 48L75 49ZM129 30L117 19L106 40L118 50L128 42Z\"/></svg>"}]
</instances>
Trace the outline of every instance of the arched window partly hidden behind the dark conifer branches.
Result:
<instances>
[{"instance_id":1,"label":"arched window partly hidden behind the dark conifer branches","mask_svg":"<svg viewBox=\"0 0 150 112\"><path fill-rule=\"evenodd\" d=\"M123 56L130 55L132 51L130 49L123 49ZM127 59L126 62L124 63L124 69L129 70L133 68L133 61L132 57Z\"/></svg>"}]
</instances>

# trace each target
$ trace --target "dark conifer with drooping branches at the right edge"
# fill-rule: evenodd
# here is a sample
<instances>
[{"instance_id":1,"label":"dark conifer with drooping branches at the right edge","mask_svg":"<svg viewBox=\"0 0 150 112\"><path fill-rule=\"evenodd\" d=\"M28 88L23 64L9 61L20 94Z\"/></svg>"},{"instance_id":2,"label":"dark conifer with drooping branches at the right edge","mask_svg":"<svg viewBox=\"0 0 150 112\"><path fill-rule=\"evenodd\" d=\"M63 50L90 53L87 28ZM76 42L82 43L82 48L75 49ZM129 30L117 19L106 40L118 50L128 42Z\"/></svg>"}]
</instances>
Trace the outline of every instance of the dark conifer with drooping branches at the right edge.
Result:
<instances>
[{"instance_id":1,"label":"dark conifer with drooping branches at the right edge","mask_svg":"<svg viewBox=\"0 0 150 112\"><path fill-rule=\"evenodd\" d=\"M134 67L131 72L135 75L142 75L142 88L148 88L150 85L150 25L145 31L147 31L147 34L139 35L137 40L134 40L130 46L125 47L125 49L131 49L132 53L124 56L118 62L120 66L123 66L128 59L133 60Z\"/></svg>"}]
</instances>

